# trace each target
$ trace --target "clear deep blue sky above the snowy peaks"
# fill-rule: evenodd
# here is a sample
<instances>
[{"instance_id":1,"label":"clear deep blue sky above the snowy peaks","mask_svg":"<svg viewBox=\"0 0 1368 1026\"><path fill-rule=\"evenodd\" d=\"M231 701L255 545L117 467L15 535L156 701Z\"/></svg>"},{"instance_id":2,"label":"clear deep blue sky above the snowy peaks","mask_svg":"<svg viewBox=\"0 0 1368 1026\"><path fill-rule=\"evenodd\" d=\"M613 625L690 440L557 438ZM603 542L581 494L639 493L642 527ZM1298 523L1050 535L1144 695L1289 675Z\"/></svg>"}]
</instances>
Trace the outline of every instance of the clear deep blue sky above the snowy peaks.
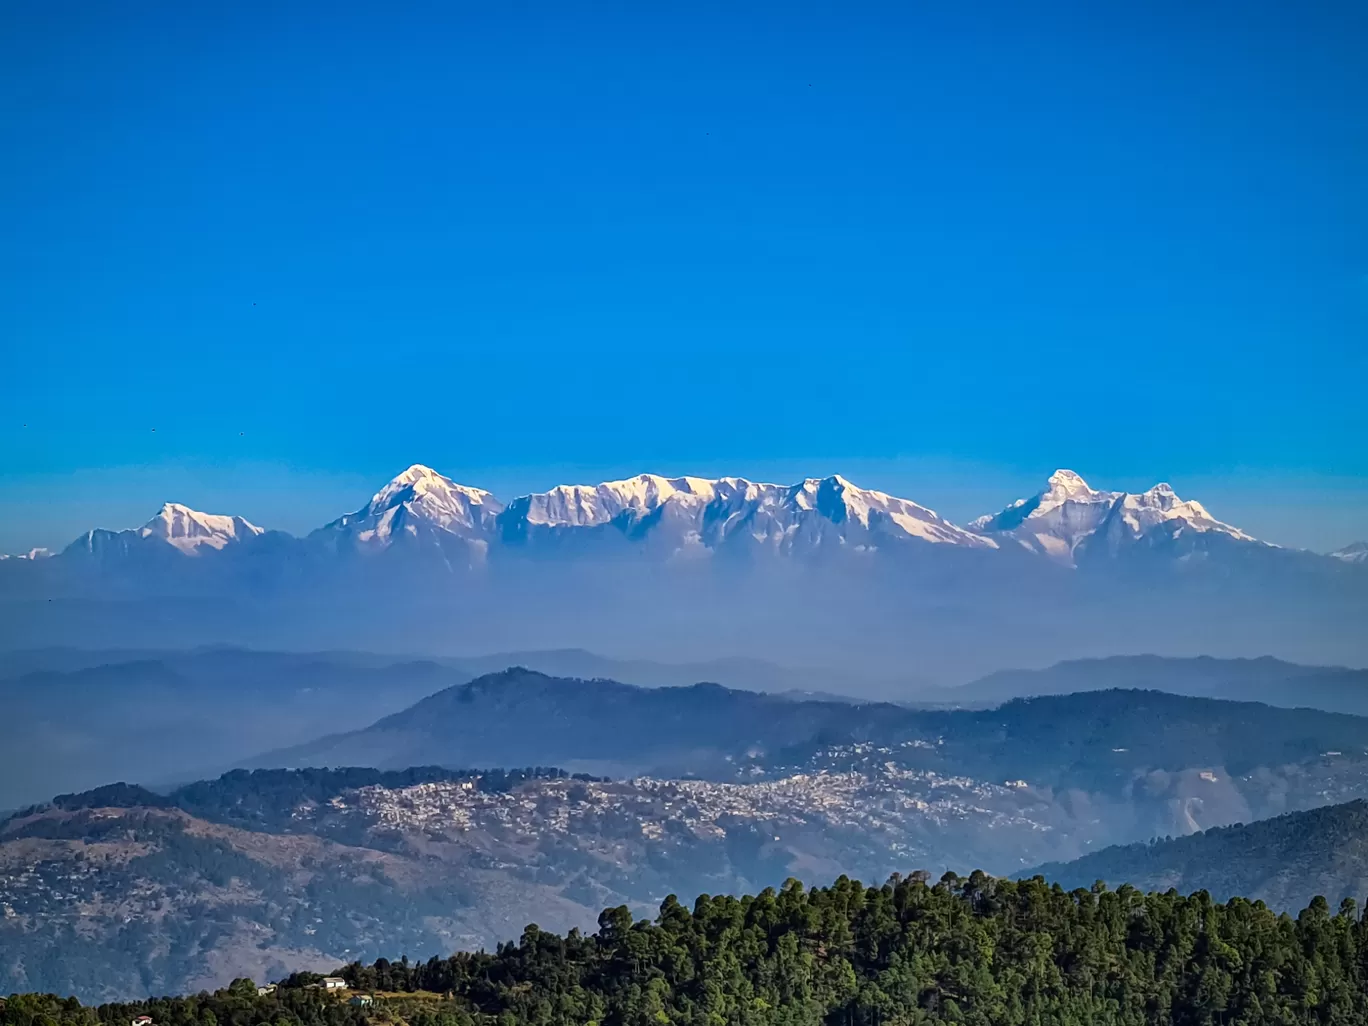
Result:
<instances>
[{"instance_id":1,"label":"clear deep blue sky above the snowy peaks","mask_svg":"<svg viewBox=\"0 0 1368 1026\"><path fill-rule=\"evenodd\" d=\"M1064 465L1368 536L1365 45L1363 3L8 4L0 549L305 529L413 461L956 517Z\"/></svg>"}]
</instances>

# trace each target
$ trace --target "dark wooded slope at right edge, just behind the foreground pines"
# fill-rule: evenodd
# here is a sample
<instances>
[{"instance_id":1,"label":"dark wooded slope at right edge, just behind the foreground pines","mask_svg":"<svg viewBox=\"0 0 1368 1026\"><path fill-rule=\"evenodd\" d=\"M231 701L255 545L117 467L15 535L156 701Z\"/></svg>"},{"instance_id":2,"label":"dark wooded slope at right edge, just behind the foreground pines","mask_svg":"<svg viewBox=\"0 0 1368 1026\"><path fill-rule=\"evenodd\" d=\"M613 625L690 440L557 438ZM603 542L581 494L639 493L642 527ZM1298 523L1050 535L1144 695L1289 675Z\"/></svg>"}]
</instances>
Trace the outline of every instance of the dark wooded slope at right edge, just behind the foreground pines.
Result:
<instances>
[{"instance_id":1,"label":"dark wooded slope at right edge, just behind the foreground pines","mask_svg":"<svg viewBox=\"0 0 1368 1026\"><path fill-rule=\"evenodd\" d=\"M1219 902L1241 895L1282 910L1305 907L1321 895L1331 906L1343 897L1368 900L1368 802L1222 826L1187 837L1126 844L1066 863L1038 866L1066 888L1112 888L1182 893L1207 891Z\"/></svg>"}]
</instances>

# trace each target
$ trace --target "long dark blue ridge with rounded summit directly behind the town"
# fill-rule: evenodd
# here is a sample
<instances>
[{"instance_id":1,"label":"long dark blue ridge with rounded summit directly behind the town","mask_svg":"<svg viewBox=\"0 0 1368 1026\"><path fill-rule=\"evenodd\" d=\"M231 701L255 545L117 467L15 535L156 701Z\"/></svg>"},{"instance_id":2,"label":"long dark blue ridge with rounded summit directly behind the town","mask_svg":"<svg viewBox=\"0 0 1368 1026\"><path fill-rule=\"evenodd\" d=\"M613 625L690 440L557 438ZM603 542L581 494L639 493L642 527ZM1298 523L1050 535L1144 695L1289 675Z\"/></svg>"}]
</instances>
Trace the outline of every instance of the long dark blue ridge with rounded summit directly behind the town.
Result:
<instances>
[{"instance_id":1,"label":"long dark blue ridge with rounded summit directly behind the town","mask_svg":"<svg viewBox=\"0 0 1368 1026\"><path fill-rule=\"evenodd\" d=\"M910 709L792 702L718 685L646 689L513 669L447 688L363 731L249 765L550 763L607 776L746 780L808 765L850 743L896 750L918 772L1029 781L1048 789L1049 800L1070 789L1093 795L1108 803L1093 811L1100 821L1140 815L1127 830L1148 836L1140 833L1142 822L1187 833L1287 811L1295 806L1283 804L1287 793L1271 781L1289 766L1347 773L1316 804L1356 798L1349 770L1368 765L1368 718L1157 691L1018 699L999 709ZM1261 766L1276 772L1249 776ZM1320 776L1317 769L1304 780ZM1294 789L1302 793L1302 785Z\"/></svg>"}]
</instances>

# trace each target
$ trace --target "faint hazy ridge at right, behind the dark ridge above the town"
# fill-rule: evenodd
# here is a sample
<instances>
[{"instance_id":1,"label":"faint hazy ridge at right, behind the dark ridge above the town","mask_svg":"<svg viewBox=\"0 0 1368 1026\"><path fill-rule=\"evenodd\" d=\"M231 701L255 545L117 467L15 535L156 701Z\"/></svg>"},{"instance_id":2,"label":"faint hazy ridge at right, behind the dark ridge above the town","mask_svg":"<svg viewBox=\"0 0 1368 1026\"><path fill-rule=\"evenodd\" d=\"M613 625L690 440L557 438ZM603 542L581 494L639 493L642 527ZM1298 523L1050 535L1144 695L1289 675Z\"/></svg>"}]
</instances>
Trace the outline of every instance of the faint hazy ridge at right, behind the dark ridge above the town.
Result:
<instances>
[{"instance_id":1,"label":"faint hazy ridge at right, behind the dark ridge above the town","mask_svg":"<svg viewBox=\"0 0 1368 1026\"><path fill-rule=\"evenodd\" d=\"M1213 659L1201 655L1178 659L1114 655L1105 659L1075 659L1042 670L1001 670L960 687L923 691L917 699L952 705L1000 705L1014 698L1112 688L1167 691L1174 695L1368 715L1368 670L1301 666L1271 657Z\"/></svg>"}]
</instances>

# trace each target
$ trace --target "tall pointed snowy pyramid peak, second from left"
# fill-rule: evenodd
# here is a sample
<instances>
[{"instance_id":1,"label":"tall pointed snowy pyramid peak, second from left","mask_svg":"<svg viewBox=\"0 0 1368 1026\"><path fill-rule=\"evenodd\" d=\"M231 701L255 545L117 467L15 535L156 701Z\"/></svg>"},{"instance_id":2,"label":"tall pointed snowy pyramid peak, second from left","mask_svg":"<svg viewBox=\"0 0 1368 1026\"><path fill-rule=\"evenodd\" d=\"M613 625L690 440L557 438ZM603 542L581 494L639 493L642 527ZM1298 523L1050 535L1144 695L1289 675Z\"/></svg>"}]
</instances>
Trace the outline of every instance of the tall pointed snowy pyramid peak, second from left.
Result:
<instances>
[{"instance_id":1,"label":"tall pointed snowy pyramid peak, second from left","mask_svg":"<svg viewBox=\"0 0 1368 1026\"><path fill-rule=\"evenodd\" d=\"M413 464L356 513L334 520L315 535L343 536L363 549L384 549L397 538L425 531L473 536L502 510L490 492L457 484L431 466Z\"/></svg>"}]
</instances>

